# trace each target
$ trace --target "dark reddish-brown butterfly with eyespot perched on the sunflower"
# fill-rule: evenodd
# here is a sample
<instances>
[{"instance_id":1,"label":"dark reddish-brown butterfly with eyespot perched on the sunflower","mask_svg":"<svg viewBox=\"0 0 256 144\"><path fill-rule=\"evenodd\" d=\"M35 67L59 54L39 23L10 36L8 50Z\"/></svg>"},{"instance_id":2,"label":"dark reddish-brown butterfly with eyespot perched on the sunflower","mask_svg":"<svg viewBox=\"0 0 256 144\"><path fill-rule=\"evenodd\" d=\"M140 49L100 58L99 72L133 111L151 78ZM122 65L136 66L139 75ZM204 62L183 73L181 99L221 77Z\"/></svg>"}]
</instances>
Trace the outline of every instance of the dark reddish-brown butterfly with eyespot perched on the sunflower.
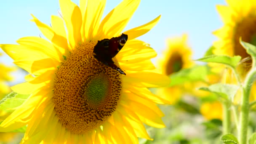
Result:
<instances>
[{"instance_id":1,"label":"dark reddish-brown butterfly with eyespot perched on the sunflower","mask_svg":"<svg viewBox=\"0 0 256 144\"><path fill-rule=\"evenodd\" d=\"M98 43L94 46L93 55L98 61L117 70L120 74L126 75L120 67L115 65L112 60L113 57L123 48L128 40L128 35L122 34L120 37L112 37L109 39L98 40Z\"/></svg>"}]
</instances>

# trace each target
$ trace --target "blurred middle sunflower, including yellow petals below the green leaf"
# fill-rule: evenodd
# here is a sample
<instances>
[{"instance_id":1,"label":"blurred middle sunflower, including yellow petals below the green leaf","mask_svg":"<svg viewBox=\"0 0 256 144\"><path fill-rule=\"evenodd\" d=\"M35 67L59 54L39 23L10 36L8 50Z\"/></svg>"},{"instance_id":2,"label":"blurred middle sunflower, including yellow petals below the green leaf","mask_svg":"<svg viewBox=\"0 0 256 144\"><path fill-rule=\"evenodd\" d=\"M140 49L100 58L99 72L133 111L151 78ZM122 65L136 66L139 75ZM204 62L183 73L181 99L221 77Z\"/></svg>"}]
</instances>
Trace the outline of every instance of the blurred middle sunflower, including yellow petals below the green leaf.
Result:
<instances>
[{"instance_id":1,"label":"blurred middle sunflower, including yellow petals below the green leaf","mask_svg":"<svg viewBox=\"0 0 256 144\"><path fill-rule=\"evenodd\" d=\"M192 50L187 45L187 35L183 34L181 37L167 39L167 48L163 56L157 60L157 65L164 75L170 76L181 69L191 67L193 65L191 56ZM181 93L180 86L157 88L157 95L165 96L167 99L171 97L172 104L179 100Z\"/></svg>"}]
</instances>

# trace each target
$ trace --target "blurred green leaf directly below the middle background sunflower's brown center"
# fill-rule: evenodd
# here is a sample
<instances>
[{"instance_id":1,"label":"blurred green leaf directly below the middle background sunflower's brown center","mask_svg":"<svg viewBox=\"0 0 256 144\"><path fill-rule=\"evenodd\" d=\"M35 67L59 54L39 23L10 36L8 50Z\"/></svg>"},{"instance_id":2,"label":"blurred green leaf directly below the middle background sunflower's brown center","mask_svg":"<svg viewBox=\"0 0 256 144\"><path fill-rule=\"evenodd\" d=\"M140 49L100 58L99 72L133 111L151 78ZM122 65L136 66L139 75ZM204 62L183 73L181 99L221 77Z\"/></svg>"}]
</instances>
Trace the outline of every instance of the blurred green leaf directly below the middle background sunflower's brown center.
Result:
<instances>
[{"instance_id":1,"label":"blurred green leaf directly below the middle background sunflower's brown center","mask_svg":"<svg viewBox=\"0 0 256 144\"><path fill-rule=\"evenodd\" d=\"M188 69L181 69L179 72L173 73L169 86L181 85L185 82L205 81L205 77L210 73L207 65L197 65Z\"/></svg>"}]
</instances>

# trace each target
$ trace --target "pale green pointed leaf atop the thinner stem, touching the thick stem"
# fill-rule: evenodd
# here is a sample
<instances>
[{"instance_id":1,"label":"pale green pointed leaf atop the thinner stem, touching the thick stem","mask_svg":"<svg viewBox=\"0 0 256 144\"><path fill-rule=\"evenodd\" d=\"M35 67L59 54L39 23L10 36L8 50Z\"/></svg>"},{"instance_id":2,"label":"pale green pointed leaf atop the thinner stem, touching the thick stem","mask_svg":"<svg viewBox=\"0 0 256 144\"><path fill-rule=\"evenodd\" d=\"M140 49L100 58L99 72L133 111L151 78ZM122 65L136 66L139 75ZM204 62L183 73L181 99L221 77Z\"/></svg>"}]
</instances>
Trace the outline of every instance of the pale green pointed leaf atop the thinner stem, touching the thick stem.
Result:
<instances>
[{"instance_id":1,"label":"pale green pointed leaf atop the thinner stem, touching the thick stem","mask_svg":"<svg viewBox=\"0 0 256 144\"><path fill-rule=\"evenodd\" d=\"M199 88L199 90L215 93L218 96L224 99L230 99L231 101L233 101L234 96L237 93L238 89L239 89L239 86L237 85L223 84L223 83L216 83L216 84L210 85L208 88L205 88L205 87Z\"/></svg>"}]
</instances>

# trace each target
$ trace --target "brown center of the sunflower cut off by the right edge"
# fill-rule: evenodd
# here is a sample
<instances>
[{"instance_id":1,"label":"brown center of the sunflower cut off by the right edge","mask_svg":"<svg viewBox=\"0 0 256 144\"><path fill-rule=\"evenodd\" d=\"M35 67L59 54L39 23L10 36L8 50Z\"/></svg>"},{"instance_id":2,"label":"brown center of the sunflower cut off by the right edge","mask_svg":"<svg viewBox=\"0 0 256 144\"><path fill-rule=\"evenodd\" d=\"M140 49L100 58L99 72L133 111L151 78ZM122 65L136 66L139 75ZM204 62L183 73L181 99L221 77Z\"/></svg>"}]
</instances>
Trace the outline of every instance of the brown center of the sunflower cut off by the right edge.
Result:
<instances>
[{"instance_id":1,"label":"brown center of the sunflower cut off by the right edge","mask_svg":"<svg viewBox=\"0 0 256 144\"><path fill-rule=\"evenodd\" d=\"M239 55L242 57L242 63L240 65L240 75L244 76L251 69L251 56L246 52L245 48L240 44L239 38L247 43L256 44L256 16L248 16L243 19L235 27L235 45L234 45L234 55Z\"/></svg>"}]
</instances>

